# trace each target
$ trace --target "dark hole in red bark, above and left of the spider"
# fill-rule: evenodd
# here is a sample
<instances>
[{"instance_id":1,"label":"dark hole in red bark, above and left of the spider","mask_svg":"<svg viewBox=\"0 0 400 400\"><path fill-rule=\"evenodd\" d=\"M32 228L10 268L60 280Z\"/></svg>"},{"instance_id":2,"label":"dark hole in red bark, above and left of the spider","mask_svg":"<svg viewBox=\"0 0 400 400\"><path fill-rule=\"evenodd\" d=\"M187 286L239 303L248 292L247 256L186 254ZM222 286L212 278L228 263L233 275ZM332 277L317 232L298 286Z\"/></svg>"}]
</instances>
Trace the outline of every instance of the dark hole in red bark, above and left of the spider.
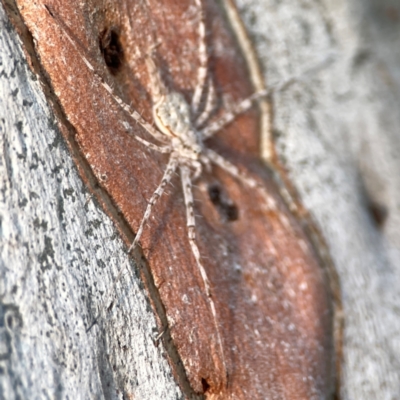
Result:
<instances>
[{"instance_id":1,"label":"dark hole in red bark, above and left of the spider","mask_svg":"<svg viewBox=\"0 0 400 400\"><path fill-rule=\"evenodd\" d=\"M116 27L103 30L99 39L99 47L108 69L115 75L121 68L124 59L124 52Z\"/></svg>"}]
</instances>

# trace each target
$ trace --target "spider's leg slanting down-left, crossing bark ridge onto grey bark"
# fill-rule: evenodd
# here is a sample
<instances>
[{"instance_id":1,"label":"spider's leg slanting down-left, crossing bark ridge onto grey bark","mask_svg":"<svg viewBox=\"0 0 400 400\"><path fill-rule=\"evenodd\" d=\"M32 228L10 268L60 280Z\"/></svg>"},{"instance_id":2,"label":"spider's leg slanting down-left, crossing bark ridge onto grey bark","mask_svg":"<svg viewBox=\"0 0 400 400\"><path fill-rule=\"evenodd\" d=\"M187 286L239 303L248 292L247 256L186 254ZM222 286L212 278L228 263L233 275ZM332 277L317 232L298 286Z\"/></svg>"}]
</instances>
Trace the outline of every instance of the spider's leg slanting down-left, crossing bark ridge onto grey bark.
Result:
<instances>
[{"instance_id":1,"label":"spider's leg slanting down-left, crossing bark ridge onto grey bark","mask_svg":"<svg viewBox=\"0 0 400 400\"><path fill-rule=\"evenodd\" d=\"M153 208L154 204L156 204L157 200L164 193L164 190L165 190L165 187L167 186L167 184L171 181L172 175L175 172L177 165L178 165L178 160L176 159L176 157L174 155L171 155L171 157L169 159L169 162L168 162L168 165L167 165L167 168L166 168L166 170L164 172L164 175L163 175L163 177L161 179L161 182L158 185L158 187L155 190L155 192L153 193L153 195L151 196L149 203L147 204L146 211L145 211L145 213L143 215L142 221L140 222L139 229L138 229L138 231L136 233L136 236L135 236L135 240L129 246L128 253L130 253L137 246L137 244L139 243L139 240L140 240L140 238L142 236L142 233L143 233L144 226L145 226L146 222L148 221L148 219L150 218L152 208ZM128 265L129 265L129 261L127 259L125 261L125 263L123 264L123 266L121 267L121 269L118 271L118 274L117 274L116 278L114 279L114 282L113 282L112 286L108 290L107 295L105 297L105 300L103 302L102 308L100 309L99 315L101 314L101 312L102 312L103 308L105 307L105 305L108 303L108 300L111 297L111 294L115 290L115 286L116 286L117 282L120 280L120 278L121 278L122 274L124 273L124 271L128 268ZM94 321L92 322L92 324L90 325L90 327L87 330L90 330L92 328L92 326L96 323L97 318L98 317L96 317L94 319Z\"/></svg>"}]
</instances>

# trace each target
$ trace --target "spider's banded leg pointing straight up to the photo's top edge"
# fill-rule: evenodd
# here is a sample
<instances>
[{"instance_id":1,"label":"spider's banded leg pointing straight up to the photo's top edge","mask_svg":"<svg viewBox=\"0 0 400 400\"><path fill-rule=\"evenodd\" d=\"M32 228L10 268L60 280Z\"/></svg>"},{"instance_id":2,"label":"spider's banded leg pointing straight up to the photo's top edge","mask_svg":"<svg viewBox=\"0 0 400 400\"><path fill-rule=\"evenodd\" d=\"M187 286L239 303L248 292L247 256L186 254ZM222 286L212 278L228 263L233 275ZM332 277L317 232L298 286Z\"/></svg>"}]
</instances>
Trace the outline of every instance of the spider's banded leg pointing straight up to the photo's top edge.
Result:
<instances>
[{"instance_id":1,"label":"spider's banded leg pointing straight up to the photo's top edge","mask_svg":"<svg viewBox=\"0 0 400 400\"><path fill-rule=\"evenodd\" d=\"M200 22L198 25L198 35L199 35L199 61L200 65L197 70L197 82L196 87L194 89L193 97L192 97L192 114L196 115L199 112L200 101L204 91L206 79L207 79L207 70L208 70L208 50L206 44L206 24L204 19L204 8L201 0L195 0L195 3L198 7L200 14Z\"/></svg>"}]
</instances>

